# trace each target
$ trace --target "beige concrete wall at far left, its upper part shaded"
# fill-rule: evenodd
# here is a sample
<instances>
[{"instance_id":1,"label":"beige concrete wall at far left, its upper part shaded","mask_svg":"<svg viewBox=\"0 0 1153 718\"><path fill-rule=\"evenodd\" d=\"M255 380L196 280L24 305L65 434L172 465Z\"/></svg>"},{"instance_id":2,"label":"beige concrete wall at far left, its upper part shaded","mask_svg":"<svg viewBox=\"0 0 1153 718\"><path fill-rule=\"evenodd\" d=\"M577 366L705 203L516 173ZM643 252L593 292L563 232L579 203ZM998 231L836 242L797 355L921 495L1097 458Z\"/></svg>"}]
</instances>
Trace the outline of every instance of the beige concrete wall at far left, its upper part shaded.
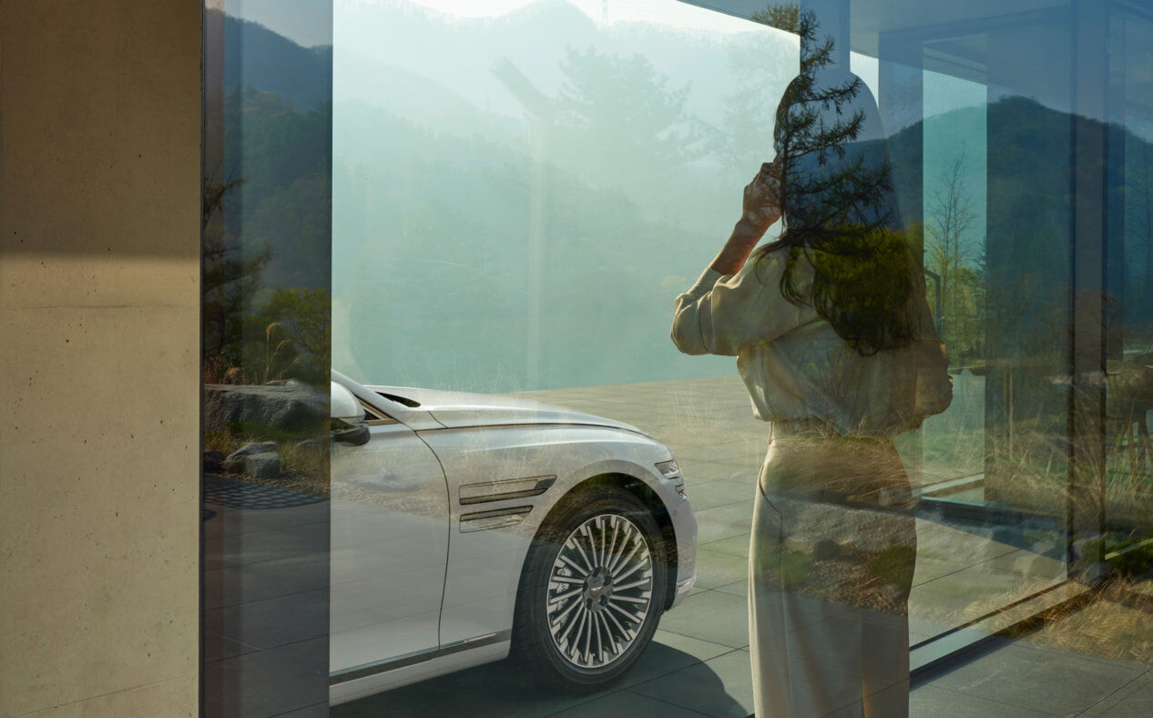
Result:
<instances>
[{"instance_id":1,"label":"beige concrete wall at far left, its upper part shaded","mask_svg":"<svg viewBox=\"0 0 1153 718\"><path fill-rule=\"evenodd\" d=\"M197 712L199 0L0 0L0 716Z\"/></svg>"}]
</instances>

